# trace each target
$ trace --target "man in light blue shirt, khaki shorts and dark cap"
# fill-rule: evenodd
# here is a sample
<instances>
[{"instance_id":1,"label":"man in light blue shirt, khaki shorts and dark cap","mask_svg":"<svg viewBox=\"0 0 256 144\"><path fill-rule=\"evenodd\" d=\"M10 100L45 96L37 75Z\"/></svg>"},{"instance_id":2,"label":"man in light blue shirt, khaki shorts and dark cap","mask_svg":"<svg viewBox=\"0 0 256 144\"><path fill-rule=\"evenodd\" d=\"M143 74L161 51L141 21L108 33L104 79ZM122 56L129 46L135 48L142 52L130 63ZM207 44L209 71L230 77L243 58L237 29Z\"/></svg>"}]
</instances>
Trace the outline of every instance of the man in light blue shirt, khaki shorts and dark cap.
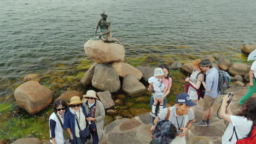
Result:
<instances>
[{"instance_id":1,"label":"man in light blue shirt, khaki shorts and dark cap","mask_svg":"<svg viewBox=\"0 0 256 144\"><path fill-rule=\"evenodd\" d=\"M205 95L203 97L203 116L202 121L194 123L196 127L211 126L210 119L213 115L214 101L219 97L218 90L219 84L219 71L212 67L212 62L209 58L203 57L200 62L200 67L203 71L206 71L205 81L203 77L200 77L200 81L205 87Z\"/></svg>"}]
</instances>

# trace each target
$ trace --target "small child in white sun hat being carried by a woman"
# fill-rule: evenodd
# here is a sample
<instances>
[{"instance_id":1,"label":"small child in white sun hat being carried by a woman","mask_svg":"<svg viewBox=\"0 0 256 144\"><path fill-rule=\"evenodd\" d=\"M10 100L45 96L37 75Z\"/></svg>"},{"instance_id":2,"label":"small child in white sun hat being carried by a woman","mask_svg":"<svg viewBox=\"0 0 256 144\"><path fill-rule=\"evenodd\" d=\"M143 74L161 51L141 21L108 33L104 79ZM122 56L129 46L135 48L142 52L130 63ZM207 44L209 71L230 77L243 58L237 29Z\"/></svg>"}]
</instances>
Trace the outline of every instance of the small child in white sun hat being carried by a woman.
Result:
<instances>
[{"instance_id":1,"label":"small child in white sun hat being carried by a woman","mask_svg":"<svg viewBox=\"0 0 256 144\"><path fill-rule=\"evenodd\" d=\"M162 96L164 95L164 92L167 91L166 85L164 83L162 83L162 76L164 76L164 75L165 75L164 71L161 68L156 68L154 70L154 76L152 76L148 79L149 91L150 91L150 89L152 89L151 92L152 92L153 98L154 98L152 112L150 112L150 115L152 115L153 117L157 116L157 113L155 113L156 104L158 104L158 102L160 103L159 111L162 110L162 107L164 104L164 99L161 99ZM152 88L152 86L153 86L153 88Z\"/></svg>"}]
</instances>

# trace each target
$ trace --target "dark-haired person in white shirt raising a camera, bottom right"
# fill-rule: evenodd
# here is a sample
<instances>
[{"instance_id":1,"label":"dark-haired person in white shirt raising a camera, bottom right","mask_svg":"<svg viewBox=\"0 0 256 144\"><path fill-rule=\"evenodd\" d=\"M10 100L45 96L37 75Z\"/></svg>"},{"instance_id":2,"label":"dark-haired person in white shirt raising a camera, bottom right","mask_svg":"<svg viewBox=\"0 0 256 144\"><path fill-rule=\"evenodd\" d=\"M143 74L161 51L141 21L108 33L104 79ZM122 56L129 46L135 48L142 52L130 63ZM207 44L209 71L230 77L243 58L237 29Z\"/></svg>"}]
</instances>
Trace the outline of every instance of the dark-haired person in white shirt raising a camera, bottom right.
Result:
<instances>
[{"instance_id":1,"label":"dark-haired person in white shirt raising a camera, bottom right","mask_svg":"<svg viewBox=\"0 0 256 144\"><path fill-rule=\"evenodd\" d=\"M230 105L228 105L229 95L223 97L220 116L229 122L228 127L222 136L222 143L236 143L237 140L243 139L250 133L253 124L256 124L256 98L249 98L246 100L242 111L237 115L232 115ZM255 140L255 137L254 137Z\"/></svg>"}]
</instances>

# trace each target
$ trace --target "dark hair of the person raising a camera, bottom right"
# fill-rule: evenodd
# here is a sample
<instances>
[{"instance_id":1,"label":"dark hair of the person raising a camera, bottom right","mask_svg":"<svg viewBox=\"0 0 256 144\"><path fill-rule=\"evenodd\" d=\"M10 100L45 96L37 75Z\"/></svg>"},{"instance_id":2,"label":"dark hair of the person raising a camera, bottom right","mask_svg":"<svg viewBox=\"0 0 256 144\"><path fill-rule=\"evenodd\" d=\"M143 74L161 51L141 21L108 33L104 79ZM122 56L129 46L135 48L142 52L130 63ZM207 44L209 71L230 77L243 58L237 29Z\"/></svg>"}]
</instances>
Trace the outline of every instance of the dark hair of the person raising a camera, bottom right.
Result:
<instances>
[{"instance_id":1,"label":"dark hair of the person raising a camera, bottom right","mask_svg":"<svg viewBox=\"0 0 256 144\"><path fill-rule=\"evenodd\" d=\"M249 98L245 102L245 109L237 113L237 116L246 117L249 121L256 124L256 98Z\"/></svg>"}]
</instances>

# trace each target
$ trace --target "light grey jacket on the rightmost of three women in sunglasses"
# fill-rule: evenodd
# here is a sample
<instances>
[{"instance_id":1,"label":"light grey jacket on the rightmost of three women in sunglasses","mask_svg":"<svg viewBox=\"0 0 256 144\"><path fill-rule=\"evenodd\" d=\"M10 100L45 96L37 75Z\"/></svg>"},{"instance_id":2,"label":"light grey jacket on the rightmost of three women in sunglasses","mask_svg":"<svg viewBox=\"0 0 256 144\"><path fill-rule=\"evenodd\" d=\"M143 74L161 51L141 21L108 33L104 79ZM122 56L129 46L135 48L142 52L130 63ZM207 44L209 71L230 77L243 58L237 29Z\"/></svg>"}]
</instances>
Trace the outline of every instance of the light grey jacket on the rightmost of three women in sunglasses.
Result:
<instances>
[{"instance_id":1,"label":"light grey jacket on the rightmost of three women in sunglasses","mask_svg":"<svg viewBox=\"0 0 256 144\"><path fill-rule=\"evenodd\" d=\"M89 113L89 106L86 105L87 100L84 100L83 105L85 106L86 114ZM105 109L100 100L96 100L96 112L95 112L95 124L98 133L98 139L101 140L103 137L103 128L104 128L104 118L105 118Z\"/></svg>"}]
</instances>

